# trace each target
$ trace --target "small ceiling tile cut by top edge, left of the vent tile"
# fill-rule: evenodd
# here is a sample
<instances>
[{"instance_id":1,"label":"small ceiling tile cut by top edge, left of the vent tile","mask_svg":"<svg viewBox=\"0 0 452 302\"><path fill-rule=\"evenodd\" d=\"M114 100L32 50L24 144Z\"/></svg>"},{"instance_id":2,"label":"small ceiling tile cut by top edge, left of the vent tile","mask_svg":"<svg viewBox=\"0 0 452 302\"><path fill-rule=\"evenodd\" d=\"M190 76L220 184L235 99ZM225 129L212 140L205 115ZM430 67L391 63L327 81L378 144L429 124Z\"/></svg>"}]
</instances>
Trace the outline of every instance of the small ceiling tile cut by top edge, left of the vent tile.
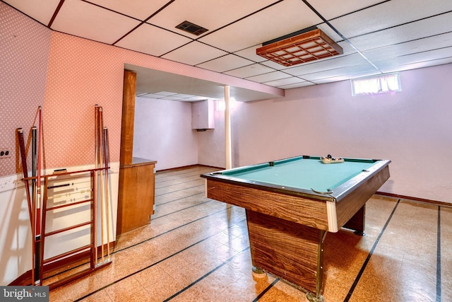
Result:
<instances>
[{"instance_id":1,"label":"small ceiling tile cut by top edge, left of the vent tile","mask_svg":"<svg viewBox=\"0 0 452 302\"><path fill-rule=\"evenodd\" d=\"M127 16L133 18L138 18L144 21L146 18L150 17L155 11L162 8L167 4L167 0L90 0L90 2L109 8L112 11L120 11Z\"/></svg>"}]
</instances>

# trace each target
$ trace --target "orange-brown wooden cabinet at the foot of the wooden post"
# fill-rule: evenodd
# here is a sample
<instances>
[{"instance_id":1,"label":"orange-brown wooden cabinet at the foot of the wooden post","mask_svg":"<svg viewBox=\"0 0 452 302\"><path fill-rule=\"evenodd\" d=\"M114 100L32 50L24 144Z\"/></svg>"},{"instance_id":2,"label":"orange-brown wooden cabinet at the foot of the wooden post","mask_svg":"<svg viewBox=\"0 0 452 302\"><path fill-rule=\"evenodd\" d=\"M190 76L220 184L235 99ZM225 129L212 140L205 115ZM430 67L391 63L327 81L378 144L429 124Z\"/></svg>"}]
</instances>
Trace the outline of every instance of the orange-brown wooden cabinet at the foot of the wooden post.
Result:
<instances>
[{"instance_id":1,"label":"orange-brown wooden cabinet at the foot of the wooden post","mask_svg":"<svg viewBox=\"0 0 452 302\"><path fill-rule=\"evenodd\" d=\"M150 223L154 214L155 163L133 158L119 167L117 234Z\"/></svg>"}]
</instances>

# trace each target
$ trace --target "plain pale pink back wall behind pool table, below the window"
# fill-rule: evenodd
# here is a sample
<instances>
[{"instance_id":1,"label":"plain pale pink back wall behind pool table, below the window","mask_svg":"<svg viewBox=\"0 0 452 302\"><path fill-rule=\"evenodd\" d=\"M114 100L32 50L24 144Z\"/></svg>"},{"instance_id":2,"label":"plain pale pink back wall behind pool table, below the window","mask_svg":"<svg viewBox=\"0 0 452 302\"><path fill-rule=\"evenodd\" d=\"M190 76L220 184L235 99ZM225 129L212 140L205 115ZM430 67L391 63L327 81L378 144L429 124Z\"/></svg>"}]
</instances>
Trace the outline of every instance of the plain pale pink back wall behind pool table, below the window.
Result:
<instances>
[{"instance_id":1,"label":"plain pale pink back wall behind pool table, below the window","mask_svg":"<svg viewBox=\"0 0 452 302\"><path fill-rule=\"evenodd\" d=\"M353 97L342 81L242 103L232 115L234 166L301 154L391 159L381 191L452 203L451 76L447 64L403 71L398 93Z\"/></svg>"}]
</instances>

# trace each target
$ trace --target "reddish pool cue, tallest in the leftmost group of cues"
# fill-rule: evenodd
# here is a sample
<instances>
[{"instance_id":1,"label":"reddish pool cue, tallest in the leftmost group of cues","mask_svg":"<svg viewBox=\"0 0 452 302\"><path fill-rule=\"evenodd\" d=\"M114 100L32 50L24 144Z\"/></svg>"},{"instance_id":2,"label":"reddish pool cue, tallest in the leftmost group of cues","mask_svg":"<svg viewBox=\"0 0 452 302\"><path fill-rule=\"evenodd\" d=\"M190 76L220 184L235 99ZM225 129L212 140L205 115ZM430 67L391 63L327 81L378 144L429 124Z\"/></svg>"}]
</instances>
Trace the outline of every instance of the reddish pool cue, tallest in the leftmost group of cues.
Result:
<instances>
[{"instance_id":1,"label":"reddish pool cue, tallest in the leftmost group of cues","mask_svg":"<svg viewBox=\"0 0 452 302\"><path fill-rule=\"evenodd\" d=\"M42 164L42 108L38 107L37 124L37 163L36 163L36 213L35 213L35 285L42 285L42 262L41 262L41 164Z\"/></svg>"}]
</instances>

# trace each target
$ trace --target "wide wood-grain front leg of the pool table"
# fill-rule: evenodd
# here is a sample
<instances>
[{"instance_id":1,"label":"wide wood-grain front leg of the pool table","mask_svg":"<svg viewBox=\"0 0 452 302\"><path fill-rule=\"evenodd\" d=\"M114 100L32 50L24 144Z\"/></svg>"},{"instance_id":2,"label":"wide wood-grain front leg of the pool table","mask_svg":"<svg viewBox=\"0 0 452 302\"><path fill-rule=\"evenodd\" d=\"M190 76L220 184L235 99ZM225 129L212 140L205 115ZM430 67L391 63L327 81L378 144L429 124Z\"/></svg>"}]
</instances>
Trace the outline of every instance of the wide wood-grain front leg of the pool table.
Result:
<instances>
[{"instance_id":1,"label":"wide wood-grain front leg of the pool table","mask_svg":"<svg viewBox=\"0 0 452 302\"><path fill-rule=\"evenodd\" d=\"M249 210L246 221L253 276L268 272L308 292L311 301L323 301L326 231Z\"/></svg>"}]
</instances>

